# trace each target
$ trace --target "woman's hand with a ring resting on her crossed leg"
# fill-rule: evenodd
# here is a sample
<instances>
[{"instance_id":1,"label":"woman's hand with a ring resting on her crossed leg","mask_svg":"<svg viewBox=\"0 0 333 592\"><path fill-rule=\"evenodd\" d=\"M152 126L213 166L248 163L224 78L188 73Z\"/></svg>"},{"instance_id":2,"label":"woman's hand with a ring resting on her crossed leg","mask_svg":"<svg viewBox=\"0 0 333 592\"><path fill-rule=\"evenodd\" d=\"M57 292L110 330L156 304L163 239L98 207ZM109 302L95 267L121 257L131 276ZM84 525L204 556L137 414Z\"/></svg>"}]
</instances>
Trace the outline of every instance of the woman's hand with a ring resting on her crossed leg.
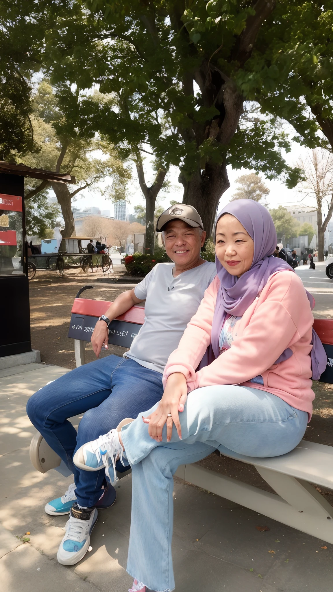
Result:
<instances>
[{"instance_id":1,"label":"woman's hand with a ring resting on her crossed leg","mask_svg":"<svg viewBox=\"0 0 333 592\"><path fill-rule=\"evenodd\" d=\"M171 440L172 423L175 424L178 436L181 439L181 425L178 411L184 411L184 404L187 399L187 384L184 374L175 372L167 381L159 406L150 416L143 417L143 422L149 423L149 436L162 442L162 429L167 423L167 442ZM171 417L168 417L171 413Z\"/></svg>"}]
</instances>

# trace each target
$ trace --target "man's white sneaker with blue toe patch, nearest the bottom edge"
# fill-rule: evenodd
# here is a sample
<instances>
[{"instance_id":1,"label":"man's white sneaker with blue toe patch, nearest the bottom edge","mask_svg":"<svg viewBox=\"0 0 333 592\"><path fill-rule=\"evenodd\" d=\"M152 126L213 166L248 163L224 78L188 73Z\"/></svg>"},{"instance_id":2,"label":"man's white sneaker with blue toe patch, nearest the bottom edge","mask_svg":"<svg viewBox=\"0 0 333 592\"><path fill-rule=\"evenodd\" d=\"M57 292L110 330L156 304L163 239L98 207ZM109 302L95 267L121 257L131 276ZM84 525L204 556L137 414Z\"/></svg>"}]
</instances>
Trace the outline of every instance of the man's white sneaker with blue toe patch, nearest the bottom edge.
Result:
<instances>
[{"instance_id":1,"label":"man's white sneaker with blue toe patch, nearest the bottom edge","mask_svg":"<svg viewBox=\"0 0 333 592\"><path fill-rule=\"evenodd\" d=\"M73 504L66 524L66 534L57 552L59 563L74 565L85 556L97 518L96 508L81 509L76 502Z\"/></svg>"}]
</instances>

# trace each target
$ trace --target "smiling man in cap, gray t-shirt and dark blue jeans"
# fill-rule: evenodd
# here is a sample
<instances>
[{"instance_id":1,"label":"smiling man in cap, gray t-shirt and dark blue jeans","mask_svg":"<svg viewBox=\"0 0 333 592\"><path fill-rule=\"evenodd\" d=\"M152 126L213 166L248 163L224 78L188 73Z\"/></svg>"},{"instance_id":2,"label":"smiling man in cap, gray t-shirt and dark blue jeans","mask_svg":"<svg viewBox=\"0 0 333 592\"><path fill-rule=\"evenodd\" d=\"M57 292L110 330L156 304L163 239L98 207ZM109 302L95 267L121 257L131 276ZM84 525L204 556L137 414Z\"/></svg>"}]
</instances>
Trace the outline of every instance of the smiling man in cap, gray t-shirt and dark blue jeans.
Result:
<instances>
[{"instance_id":1,"label":"smiling man in cap, gray t-shirt and dark blue jeans","mask_svg":"<svg viewBox=\"0 0 333 592\"><path fill-rule=\"evenodd\" d=\"M161 399L168 356L216 275L215 264L200 257L206 232L193 207L172 205L158 218L156 230L162 231L174 263L158 263L135 289L120 294L97 321L91 337L98 358L103 345L108 346L110 321L145 300L145 323L129 352L123 358L110 355L72 370L37 391L27 404L31 422L74 474L75 485L45 507L53 516L70 514L57 553L64 565L75 564L87 552L96 507L110 507L116 499L110 484L103 490L104 470L87 472L73 465L76 449ZM76 434L68 417L82 413Z\"/></svg>"}]
</instances>

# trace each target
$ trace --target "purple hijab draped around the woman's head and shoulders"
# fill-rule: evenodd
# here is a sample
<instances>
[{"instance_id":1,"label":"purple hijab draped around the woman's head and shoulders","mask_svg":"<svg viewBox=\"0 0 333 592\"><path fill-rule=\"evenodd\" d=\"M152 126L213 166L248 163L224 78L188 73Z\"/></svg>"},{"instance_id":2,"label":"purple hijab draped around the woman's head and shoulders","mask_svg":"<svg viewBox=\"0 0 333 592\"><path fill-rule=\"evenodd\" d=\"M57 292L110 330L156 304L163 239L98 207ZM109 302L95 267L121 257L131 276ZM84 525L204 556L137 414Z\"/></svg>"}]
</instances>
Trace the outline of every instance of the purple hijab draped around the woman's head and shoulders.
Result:
<instances>
[{"instance_id":1,"label":"purple hijab draped around the woman's head and shoulders","mask_svg":"<svg viewBox=\"0 0 333 592\"><path fill-rule=\"evenodd\" d=\"M289 263L272 256L277 244L276 229L270 213L263 205L253 200L231 201L217 214L214 234L217 222L223 214L232 214L244 226L254 241L254 256L251 268L240 278L229 274L216 257L220 288L217 292L212 323L212 351L209 354L209 363L219 356L219 337L226 314L242 317L267 284L268 278L277 271L289 271L294 274ZM312 310L315 300L309 292L306 294ZM312 378L318 380L326 368L327 356L321 340L313 329L311 344ZM292 354L290 348L285 349L275 363L283 362Z\"/></svg>"}]
</instances>

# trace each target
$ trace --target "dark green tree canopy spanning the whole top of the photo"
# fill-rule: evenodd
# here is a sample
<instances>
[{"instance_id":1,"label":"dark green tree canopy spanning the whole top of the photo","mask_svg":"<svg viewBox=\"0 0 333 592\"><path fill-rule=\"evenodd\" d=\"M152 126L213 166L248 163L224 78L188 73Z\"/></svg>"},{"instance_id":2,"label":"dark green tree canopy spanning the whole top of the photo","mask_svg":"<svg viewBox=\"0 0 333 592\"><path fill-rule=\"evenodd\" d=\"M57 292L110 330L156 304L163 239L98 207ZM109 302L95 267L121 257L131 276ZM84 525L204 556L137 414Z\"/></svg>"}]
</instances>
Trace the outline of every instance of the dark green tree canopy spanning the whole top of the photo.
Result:
<instances>
[{"instance_id":1,"label":"dark green tree canopy spanning the whole top of the photo","mask_svg":"<svg viewBox=\"0 0 333 592\"><path fill-rule=\"evenodd\" d=\"M22 0L2 4L19 22ZM297 184L281 118L307 146L322 142L319 128L332 146L332 0L25 0L29 11L34 67L50 75L63 114L57 136L98 132L133 157L148 225L170 165L210 233L228 164ZM155 159L151 187L144 152Z\"/></svg>"}]
</instances>

